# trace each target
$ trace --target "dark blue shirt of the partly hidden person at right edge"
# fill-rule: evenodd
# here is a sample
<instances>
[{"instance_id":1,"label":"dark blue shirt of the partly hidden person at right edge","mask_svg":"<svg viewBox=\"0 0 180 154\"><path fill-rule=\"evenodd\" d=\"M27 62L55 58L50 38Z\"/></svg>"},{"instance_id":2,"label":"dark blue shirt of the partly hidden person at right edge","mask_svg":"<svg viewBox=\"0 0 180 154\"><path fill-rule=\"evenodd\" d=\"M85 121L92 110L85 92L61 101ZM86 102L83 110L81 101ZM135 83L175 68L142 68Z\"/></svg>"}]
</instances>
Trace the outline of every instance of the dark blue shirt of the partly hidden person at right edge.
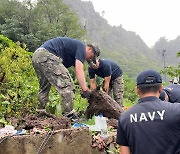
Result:
<instances>
[{"instance_id":1,"label":"dark blue shirt of the partly hidden person at right edge","mask_svg":"<svg viewBox=\"0 0 180 154\"><path fill-rule=\"evenodd\" d=\"M172 84L167 87L164 87L163 90L167 93L169 97L169 102L180 103L180 85Z\"/></svg>"}]
</instances>

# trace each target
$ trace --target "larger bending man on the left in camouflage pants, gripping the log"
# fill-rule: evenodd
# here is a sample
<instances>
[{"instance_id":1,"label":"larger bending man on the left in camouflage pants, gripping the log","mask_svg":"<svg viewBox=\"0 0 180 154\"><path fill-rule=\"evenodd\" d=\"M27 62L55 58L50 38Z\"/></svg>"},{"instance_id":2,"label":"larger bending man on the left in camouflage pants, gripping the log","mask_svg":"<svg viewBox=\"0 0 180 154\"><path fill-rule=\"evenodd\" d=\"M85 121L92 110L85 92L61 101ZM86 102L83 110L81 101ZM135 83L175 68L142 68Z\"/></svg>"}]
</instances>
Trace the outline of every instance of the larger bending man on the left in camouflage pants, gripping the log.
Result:
<instances>
[{"instance_id":1,"label":"larger bending man on the left in camouflage pants, gripping the log","mask_svg":"<svg viewBox=\"0 0 180 154\"><path fill-rule=\"evenodd\" d=\"M45 109L51 86L62 98L62 114L68 115L73 110L74 83L67 68L74 66L75 74L82 97L89 98L90 91L86 85L83 63L85 60L95 61L100 50L91 44L68 38L58 37L46 41L32 57L32 62L39 79L39 109Z\"/></svg>"}]
</instances>

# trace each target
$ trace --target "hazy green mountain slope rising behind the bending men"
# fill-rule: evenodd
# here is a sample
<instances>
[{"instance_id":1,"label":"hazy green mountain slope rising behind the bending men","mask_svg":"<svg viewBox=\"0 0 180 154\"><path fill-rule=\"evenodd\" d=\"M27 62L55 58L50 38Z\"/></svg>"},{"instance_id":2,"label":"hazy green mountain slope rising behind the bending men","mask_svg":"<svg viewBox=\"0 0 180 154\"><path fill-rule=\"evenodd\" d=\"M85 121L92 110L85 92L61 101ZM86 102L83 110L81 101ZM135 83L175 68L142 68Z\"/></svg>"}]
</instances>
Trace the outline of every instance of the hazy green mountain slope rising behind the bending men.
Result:
<instances>
[{"instance_id":1,"label":"hazy green mountain slope rising behind the bending men","mask_svg":"<svg viewBox=\"0 0 180 154\"><path fill-rule=\"evenodd\" d=\"M85 42L97 43L102 49L102 58L117 62L129 77L144 69L156 69L158 64L153 60L154 52L135 32L127 31L122 26L111 26L90 1L63 0L79 16L87 34Z\"/></svg>"}]
</instances>

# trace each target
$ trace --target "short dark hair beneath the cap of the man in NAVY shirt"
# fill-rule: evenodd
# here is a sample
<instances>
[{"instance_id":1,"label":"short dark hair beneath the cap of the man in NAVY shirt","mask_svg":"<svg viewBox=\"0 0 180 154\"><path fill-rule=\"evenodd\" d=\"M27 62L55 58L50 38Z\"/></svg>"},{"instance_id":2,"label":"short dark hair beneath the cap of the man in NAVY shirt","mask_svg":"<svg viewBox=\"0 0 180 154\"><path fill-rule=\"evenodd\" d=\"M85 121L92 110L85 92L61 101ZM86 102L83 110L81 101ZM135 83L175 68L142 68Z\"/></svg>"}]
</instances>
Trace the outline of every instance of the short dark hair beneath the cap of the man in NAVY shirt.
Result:
<instances>
[{"instance_id":1,"label":"short dark hair beneath the cap of the man in NAVY shirt","mask_svg":"<svg viewBox=\"0 0 180 154\"><path fill-rule=\"evenodd\" d=\"M137 85L137 88L140 90L140 92L142 94L146 94L149 92L158 92L160 87L161 87L161 83L154 83L154 84L142 84L142 85Z\"/></svg>"}]
</instances>

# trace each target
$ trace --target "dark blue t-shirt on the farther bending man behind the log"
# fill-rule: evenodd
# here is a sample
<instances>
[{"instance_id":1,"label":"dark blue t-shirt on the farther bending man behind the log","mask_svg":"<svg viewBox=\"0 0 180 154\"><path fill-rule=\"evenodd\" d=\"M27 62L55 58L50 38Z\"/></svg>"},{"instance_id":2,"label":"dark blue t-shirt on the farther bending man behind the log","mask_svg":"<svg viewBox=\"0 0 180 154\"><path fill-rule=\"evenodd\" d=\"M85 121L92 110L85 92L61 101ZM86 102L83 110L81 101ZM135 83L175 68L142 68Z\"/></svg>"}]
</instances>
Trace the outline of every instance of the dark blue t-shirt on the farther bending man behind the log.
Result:
<instances>
[{"instance_id":1,"label":"dark blue t-shirt on the farther bending man behind the log","mask_svg":"<svg viewBox=\"0 0 180 154\"><path fill-rule=\"evenodd\" d=\"M116 79L119 76L122 76L121 68L113 61L99 59L99 68L93 69L92 67L88 68L90 79L94 79L95 75L105 78L111 76L111 81Z\"/></svg>"}]
</instances>

